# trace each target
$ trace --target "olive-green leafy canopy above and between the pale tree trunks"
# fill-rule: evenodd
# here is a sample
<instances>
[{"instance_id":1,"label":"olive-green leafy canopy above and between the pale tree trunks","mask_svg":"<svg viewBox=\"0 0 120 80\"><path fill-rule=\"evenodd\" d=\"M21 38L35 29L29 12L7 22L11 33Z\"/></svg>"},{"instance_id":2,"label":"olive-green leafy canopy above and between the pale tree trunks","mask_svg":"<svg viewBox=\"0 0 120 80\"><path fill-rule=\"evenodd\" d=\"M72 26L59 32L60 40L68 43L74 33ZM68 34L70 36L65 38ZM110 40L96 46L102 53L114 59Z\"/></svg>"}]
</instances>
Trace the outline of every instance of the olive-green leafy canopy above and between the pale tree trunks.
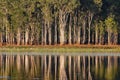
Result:
<instances>
[{"instance_id":1,"label":"olive-green leafy canopy above and between the pale tree trunks","mask_svg":"<svg viewBox=\"0 0 120 80\"><path fill-rule=\"evenodd\" d=\"M71 14L71 23L70 23ZM112 14L112 15L111 15ZM109 16L108 16L109 15ZM57 39L58 43L60 41L60 26L64 26L64 32L66 35L69 33L68 26L73 27L73 17L76 17L76 26L81 27L81 42L83 42L82 32L84 32L84 37L86 43L88 42L88 26L90 26L91 34L89 35L92 39L92 35L95 35L95 30L100 32L100 35L106 34L109 31L110 34L114 33L119 35L120 26L120 1L119 0L0 0L0 32L4 38L3 41L7 43L9 38L8 34L16 33L20 28L24 31L28 28L28 34L31 36L36 34L37 31L43 31L43 35L38 33L39 40L36 41L35 37L33 42L42 43L42 36L44 36L44 26L49 25L51 27L52 37L55 34L55 23L57 27ZM107 17L108 16L108 17ZM95 22L96 21L96 22ZM45 23L46 22L46 23ZM93 23L94 22L94 23ZM59 25L60 24L60 25ZM43 26L43 28L41 27ZM96 26L95 28L92 26ZM78 27L75 27L77 30ZM37 31L36 31L37 30ZM30 33L31 32L31 33ZM48 30L46 31L48 39ZM22 37L20 41L25 38L25 34L20 32ZM73 36L73 30L71 30L71 36ZM32 34L32 35L33 35ZM15 34L16 35L16 34ZM36 36L36 35L34 35ZM34 37L33 36L33 37ZM78 34L76 34L78 37ZM105 36L107 37L107 36ZM30 38L30 37L29 37ZM67 41L69 36L65 36L65 41ZM13 41L16 43L15 36L13 35ZM1 39L2 40L2 39ZM9 39L8 39L9 40ZM12 40L12 39L11 39ZM73 37L71 41L73 40ZM77 40L77 39L76 39ZM94 39L93 43L95 42ZM116 39L120 41L119 39ZM47 43L48 40L46 40ZM112 40L110 40L112 41ZM10 41L9 41L10 42ZM24 42L24 40L23 40ZM32 41L31 41L32 42ZM104 42L104 41L103 41ZM113 41L114 42L114 41ZM29 42L30 43L30 40ZM54 39L52 39L54 44ZM92 42L91 42L92 43ZM120 42L119 42L120 43Z\"/></svg>"}]
</instances>

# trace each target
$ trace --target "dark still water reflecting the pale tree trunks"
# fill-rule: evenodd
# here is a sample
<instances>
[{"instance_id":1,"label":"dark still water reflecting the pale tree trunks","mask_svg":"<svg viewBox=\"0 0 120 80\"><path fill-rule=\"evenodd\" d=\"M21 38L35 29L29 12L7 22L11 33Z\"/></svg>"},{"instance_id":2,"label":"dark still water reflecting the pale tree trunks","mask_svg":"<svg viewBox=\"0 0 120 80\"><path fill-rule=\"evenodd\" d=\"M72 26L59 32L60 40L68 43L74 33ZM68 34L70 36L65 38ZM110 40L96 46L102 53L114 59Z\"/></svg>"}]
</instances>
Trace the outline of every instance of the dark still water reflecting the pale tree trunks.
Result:
<instances>
[{"instance_id":1,"label":"dark still water reflecting the pale tree trunks","mask_svg":"<svg viewBox=\"0 0 120 80\"><path fill-rule=\"evenodd\" d=\"M120 57L0 55L0 80L120 80Z\"/></svg>"}]
</instances>

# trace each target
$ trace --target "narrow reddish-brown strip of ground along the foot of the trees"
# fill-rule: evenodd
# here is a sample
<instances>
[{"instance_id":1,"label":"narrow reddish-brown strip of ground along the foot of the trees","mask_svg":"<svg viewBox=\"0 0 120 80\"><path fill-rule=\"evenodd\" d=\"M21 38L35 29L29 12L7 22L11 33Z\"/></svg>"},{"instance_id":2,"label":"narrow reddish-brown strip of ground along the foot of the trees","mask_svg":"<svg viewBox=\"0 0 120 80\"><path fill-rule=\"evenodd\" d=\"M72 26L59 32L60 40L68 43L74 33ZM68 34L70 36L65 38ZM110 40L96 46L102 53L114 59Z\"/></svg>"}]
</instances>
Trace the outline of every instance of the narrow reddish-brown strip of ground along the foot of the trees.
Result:
<instances>
[{"instance_id":1,"label":"narrow reddish-brown strip of ground along the foot of the trees","mask_svg":"<svg viewBox=\"0 0 120 80\"><path fill-rule=\"evenodd\" d=\"M79 47L79 48L82 48L82 47L85 47L85 48L120 48L120 45L92 45L92 44L83 44L83 45L80 45L80 44L71 44L71 45L0 45L0 48L4 48L4 47L16 47L16 48L19 48L19 47L34 47L34 48L40 48L40 47L48 47L48 48L51 48L51 47Z\"/></svg>"}]
</instances>

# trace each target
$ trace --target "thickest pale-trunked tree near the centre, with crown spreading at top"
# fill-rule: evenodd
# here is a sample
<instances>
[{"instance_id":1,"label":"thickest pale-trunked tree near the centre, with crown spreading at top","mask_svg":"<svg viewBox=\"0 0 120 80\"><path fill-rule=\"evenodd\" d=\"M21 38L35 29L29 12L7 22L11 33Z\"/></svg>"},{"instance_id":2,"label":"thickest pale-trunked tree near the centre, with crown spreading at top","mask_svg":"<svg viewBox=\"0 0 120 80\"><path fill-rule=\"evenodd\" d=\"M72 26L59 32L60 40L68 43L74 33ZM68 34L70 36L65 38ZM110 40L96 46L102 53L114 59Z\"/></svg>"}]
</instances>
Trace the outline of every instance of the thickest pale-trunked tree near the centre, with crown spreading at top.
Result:
<instances>
[{"instance_id":1,"label":"thickest pale-trunked tree near the centre, with crown spreading at top","mask_svg":"<svg viewBox=\"0 0 120 80\"><path fill-rule=\"evenodd\" d=\"M65 27L68 20L68 13L78 6L77 0L55 0L59 12L60 44L65 44Z\"/></svg>"}]
</instances>

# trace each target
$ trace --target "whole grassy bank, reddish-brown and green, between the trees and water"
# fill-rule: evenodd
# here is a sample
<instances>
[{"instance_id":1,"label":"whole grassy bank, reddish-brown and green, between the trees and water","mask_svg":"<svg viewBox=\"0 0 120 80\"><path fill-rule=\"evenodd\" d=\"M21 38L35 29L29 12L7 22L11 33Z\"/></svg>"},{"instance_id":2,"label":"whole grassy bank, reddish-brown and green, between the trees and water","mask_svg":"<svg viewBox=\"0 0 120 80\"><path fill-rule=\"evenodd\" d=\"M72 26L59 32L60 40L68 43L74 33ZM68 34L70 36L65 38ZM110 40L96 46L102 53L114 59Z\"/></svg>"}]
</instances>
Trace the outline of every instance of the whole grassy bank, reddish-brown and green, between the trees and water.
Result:
<instances>
[{"instance_id":1,"label":"whole grassy bank, reddish-brown and green, between the trees and water","mask_svg":"<svg viewBox=\"0 0 120 80\"><path fill-rule=\"evenodd\" d=\"M64 45L64 46L2 46L0 52L115 52L120 46Z\"/></svg>"}]
</instances>

